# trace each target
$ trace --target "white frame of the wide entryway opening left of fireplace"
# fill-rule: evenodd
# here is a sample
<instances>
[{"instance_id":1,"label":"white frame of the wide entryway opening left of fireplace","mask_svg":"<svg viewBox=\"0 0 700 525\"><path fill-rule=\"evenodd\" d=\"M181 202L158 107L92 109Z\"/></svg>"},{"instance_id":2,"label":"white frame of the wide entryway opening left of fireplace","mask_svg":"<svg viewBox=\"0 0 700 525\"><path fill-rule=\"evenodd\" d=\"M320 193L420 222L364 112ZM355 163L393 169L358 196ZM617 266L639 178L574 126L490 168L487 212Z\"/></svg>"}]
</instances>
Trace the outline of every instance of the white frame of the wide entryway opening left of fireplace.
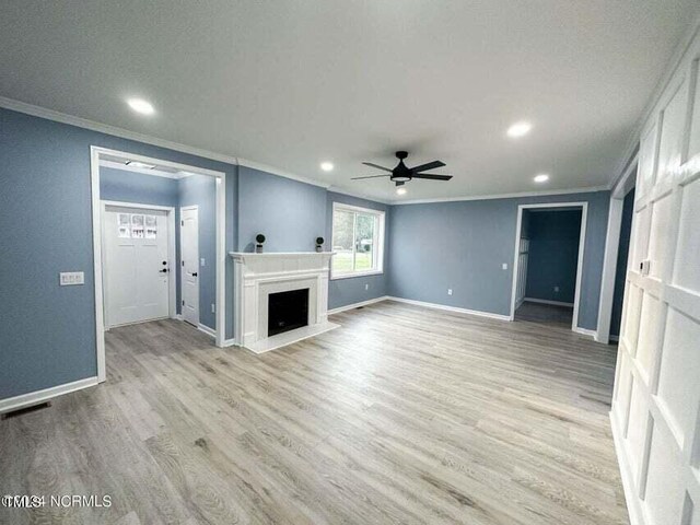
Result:
<instances>
[{"instance_id":1,"label":"white frame of the wide entryway opening left of fireplace","mask_svg":"<svg viewBox=\"0 0 700 525\"><path fill-rule=\"evenodd\" d=\"M102 207L100 201L100 159L120 158L125 161L139 161L148 164L156 164L177 171L208 175L217 180L217 340L218 347L223 347L225 341L225 271L226 271L226 174L203 167L189 166L178 162L171 162L144 155L137 155L125 151L110 150L98 145L90 147L90 182L92 187L92 245L93 245L93 275L95 281L95 353L97 355L97 381L104 382L107 377L105 364L105 315L102 280Z\"/></svg>"}]
</instances>

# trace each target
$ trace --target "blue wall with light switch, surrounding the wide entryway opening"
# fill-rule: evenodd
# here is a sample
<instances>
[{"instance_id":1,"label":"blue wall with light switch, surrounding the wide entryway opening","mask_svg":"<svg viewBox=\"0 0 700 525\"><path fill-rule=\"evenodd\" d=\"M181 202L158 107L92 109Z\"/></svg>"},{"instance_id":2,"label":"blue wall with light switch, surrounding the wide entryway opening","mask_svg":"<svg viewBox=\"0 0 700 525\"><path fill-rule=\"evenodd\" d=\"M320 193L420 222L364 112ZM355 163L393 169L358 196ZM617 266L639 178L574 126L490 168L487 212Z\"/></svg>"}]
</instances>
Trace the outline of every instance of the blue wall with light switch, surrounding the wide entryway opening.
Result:
<instances>
[{"instance_id":1,"label":"blue wall with light switch, surrounding the wide entryway opening","mask_svg":"<svg viewBox=\"0 0 700 525\"><path fill-rule=\"evenodd\" d=\"M234 217L235 165L0 109L0 399L96 375L91 145L225 172ZM60 271L84 271L85 284L59 287ZM226 320L233 337L229 284Z\"/></svg>"}]
</instances>

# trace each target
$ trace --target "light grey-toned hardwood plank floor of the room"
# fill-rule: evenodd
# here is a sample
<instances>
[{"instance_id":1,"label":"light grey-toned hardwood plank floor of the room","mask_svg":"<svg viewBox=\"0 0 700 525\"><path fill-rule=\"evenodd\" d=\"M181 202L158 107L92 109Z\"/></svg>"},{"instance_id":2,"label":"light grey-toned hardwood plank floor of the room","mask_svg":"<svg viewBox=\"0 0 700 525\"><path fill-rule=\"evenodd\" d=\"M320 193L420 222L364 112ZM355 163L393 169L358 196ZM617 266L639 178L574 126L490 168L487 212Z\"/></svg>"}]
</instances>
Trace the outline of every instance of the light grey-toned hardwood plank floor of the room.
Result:
<instances>
[{"instance_id":1,"label":"light grey-toned hardwood plank floor of the room","mask_svg":"<svg viewBox=\"0 0 700 525\"><path fill-rule=\"evenodd\" d=\"M166 320L108 381L0 421L0 493L109 494L0 522L627 524L615 347L394 302L254 355Z\"/></svg>"}]
</instances>

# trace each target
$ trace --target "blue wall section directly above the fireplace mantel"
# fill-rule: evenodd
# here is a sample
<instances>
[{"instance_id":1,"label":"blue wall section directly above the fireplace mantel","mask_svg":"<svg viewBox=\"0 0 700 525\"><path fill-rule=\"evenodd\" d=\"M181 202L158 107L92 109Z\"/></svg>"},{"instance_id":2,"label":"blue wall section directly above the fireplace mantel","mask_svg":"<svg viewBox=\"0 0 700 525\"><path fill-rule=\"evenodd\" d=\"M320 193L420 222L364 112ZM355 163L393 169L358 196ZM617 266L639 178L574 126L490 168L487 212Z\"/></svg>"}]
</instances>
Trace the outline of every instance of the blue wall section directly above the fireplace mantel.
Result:
<instances>
[{"instance_id":1,"label":"blue wall section directly above the fireplace mantel","mask_svg":"<svg viewBox=\"0 0 700 525\"><path fill-rule=\"evenodd\" d=\"M238 168L238 250L313 252L326 231L326 190L266 172Z\"/></svg>"}]
</instances>

